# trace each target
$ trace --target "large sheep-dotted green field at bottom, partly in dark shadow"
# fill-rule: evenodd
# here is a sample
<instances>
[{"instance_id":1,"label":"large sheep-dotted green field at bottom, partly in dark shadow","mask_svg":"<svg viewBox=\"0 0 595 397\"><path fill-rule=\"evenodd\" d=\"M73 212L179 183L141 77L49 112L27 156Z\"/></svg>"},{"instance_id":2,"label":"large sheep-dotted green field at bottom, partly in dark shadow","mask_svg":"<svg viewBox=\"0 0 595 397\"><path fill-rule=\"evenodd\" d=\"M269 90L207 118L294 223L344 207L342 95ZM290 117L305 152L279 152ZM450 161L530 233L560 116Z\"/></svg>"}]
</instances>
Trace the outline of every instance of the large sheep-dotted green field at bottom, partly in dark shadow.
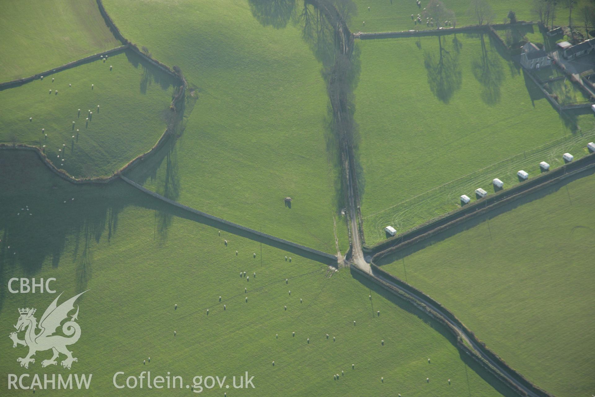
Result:
<instances>
[{"instance_id":1,"label":"large sheep-dotted green field at bottom, partly in dark shadow","mask_svg":"<svg viewBox=\"0 0 595 397\"><path fill-rule=\"evenodd\" d=\"M176 217L123 182L71 185L33 153L1 151L0 167L7 171L0 175L0 281L55 277L53 286L64 290L64 299L89 289L77 301L83 332L70 349L79 359L73 373L93 374L92 395L113 395L116 371L138 376L150 370L152 376L171 371L186 384L195 375L248 371L256 388L240 391L258 396L277 396L283 389L295 396L502 392L512 397L488 374L476 373L480 369L459 354L440 326L390 301L346 268L328 277L320 263L297 255L286 262L287 252L267 245L261 251L258 243L229 233L219 236L217 229ZM32 215L23 214L25 206ZM249 280L239 277L240 271ZM8 339L18 308L37 308L39 320L54 298L0 290L1 373L67 373L60 364L40 367L48 352L38 352L28 370L19 367L23 346L13 349ZM344 376L333 380L342 371ZM7 387L6 376L0 387ZM77 393L60 390L60 395ZM146 389L123 393L140 395Z\"/></svg>"}]
</instances>

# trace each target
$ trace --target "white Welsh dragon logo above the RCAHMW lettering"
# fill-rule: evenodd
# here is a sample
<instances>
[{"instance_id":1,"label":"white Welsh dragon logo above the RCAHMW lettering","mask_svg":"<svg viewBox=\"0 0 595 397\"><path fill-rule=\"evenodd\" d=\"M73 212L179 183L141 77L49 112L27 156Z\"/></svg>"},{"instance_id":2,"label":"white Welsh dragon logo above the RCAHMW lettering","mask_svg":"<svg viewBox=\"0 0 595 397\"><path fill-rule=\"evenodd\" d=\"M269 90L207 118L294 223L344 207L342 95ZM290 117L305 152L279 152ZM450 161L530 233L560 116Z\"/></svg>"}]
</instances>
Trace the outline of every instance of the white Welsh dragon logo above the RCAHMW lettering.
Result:
<instances>
[{"instance_id":1,"label":"white Welsh dragon logo above the RCAHMW lettering","mask_svg":"<svg viewBox=\"0 0 595 397\"><path fill-rule=\"evenodd\" d=\"M35 359L31 357L34 356L37 351L49 349L52 349L54 356L49 360L43 360L41 362L42 367L57 365L58 363L56 362L56 359L60 353L66 355L65 360L61 362L62 367L64 368L70 370L73 361L79 361L76 357L73 357L73 352L66 348L66 346L74 345L80 337L80 326L75 322L75 320L78 320L77 316L79 315L78 305L76 313L71 316L70 321L66 321L64 325L62 325L62 333L69 337L54 335L54 333L58 327L60 327L60 323L68 318L68 312L74 310L74 301L85 292L87 291L83 291L79 293L79 295L68 299L68 301L63 302L60 306L58 306L57 303L58 298L60 298L62 293L58 295L58 298L54 299L54 302L49 305L41 316L41 320L39 321L39 333L35 332L37 329L37 319L33 317L36 309L26 308L18 310L20 317L18 317L17 325L14 327L17 329L17 332L25 331L25 339L18 339L17 332L12 332L9 336L10 339L12 339L13 348L17 347L17 345L29 346L29 354L27 354L27 357L17 358L17 361L21 363L21 367L29 368L29 363L35 364Z\"/></svg>"}]
</instances>

